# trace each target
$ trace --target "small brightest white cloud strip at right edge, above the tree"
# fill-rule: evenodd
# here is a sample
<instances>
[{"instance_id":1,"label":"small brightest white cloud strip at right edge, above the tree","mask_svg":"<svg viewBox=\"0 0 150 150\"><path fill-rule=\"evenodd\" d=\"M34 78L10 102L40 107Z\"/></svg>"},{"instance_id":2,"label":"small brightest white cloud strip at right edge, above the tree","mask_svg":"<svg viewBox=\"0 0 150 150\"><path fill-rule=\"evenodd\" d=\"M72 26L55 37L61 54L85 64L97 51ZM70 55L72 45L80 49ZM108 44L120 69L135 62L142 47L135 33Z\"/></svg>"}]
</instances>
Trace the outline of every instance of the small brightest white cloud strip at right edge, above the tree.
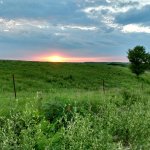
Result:
<instances>
[{"instance_id":1,"label":"small brightest white cloud strip at right edge, above the tree","mask_svg":"<svg viewBox=\"0 0 150 150\"><path fill-rule=\"evenodd\" d=\"M128 25L123 26L122 32L124 33L150 33L150 27L138 25L138 24L128 24Z\"/></svg>"}]
</instances>

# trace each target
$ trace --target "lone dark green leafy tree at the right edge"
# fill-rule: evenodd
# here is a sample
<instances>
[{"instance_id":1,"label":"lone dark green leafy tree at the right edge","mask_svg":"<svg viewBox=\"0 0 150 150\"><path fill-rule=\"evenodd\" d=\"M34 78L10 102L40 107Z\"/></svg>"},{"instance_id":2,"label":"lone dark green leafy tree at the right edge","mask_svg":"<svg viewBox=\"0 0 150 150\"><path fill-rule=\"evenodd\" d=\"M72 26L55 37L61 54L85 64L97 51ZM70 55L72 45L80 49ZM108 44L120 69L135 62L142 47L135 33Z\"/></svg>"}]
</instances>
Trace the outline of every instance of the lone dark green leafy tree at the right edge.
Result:
<instances>
[{"instance_id":1,"label":"lone dark green leafy tree at the right edge","mask_svg":"<svg viewBox=\"0 0 150 150\"><path fill-rule=\"evenodd\" d=\"M146 53L145 47L136 46L128 50L128 59L130 61L130 69L137 77L143 74L150 65L150 54Z\"/></svg>"}]
</instances>

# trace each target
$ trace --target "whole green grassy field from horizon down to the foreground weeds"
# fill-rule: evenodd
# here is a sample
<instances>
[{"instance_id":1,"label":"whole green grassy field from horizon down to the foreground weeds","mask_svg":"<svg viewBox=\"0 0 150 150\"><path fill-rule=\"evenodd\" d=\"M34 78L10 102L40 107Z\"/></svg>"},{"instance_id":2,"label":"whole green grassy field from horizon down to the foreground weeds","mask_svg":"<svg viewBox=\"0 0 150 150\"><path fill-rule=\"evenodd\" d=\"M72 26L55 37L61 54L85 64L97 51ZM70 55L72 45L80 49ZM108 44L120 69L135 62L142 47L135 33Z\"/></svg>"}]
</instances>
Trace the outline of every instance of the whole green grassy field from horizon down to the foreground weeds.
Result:
<instances>
[{"instance_id":1,"label":"whole green grassy field from horizon down to the foreground weeds","mask_svg":"<svg viewBox=\"0 0 150 150\"><path fill-rule=\"evenodd\" d=\"M149 150L149 99L128 64L0 61L0 149Z\"/></svg>"}]
</instances>

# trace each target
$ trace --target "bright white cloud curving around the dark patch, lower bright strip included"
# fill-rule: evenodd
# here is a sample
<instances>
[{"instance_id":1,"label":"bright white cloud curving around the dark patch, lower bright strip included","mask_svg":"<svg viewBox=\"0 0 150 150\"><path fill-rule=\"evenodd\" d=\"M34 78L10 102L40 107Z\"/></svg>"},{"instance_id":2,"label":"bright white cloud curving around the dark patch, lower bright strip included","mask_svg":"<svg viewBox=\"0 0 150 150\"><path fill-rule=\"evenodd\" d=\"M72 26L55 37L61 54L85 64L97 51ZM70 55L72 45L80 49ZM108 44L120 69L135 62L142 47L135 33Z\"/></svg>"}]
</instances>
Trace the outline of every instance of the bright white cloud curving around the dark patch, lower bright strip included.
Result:
<instances>
[{"instance_id":1,"label":"bright white cloud curving around the dark patch, lower bright strip included","mask_svg":"<svg viewBox=\"0 0 150 150\"><path fill-rule=\"evenodd\" d=\"M142 9L150 5L150 0L106 0L107 5L85 7L81 11L87 17L99 22L100 27L117 29L123 33L150 33L150 27L141 24L128 24L123 26L116 23L115 17L131 9Z\"/></svg>"}]
</instances>

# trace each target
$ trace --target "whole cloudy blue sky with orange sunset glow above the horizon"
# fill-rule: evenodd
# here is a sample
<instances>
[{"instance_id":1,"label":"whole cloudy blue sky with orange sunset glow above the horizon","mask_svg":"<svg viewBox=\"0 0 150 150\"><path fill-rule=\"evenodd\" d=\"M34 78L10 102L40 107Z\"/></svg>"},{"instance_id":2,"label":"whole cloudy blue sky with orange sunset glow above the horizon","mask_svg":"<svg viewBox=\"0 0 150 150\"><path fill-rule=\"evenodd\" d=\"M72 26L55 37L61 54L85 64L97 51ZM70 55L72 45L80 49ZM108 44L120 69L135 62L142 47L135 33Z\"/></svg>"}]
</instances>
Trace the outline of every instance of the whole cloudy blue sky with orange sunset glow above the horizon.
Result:
<instances>
[{"instance_id":1,"label":"whole cloudy blue sky with orange sunset glow above the horizon","mask_svg":"<svg viewBox=\"0 0 150 150\"><path fill-rule=\"evenodd\" d=\"M0 0L0 59L126 62L149 39L150 0Z\"/></svg>"}]
</instances>

